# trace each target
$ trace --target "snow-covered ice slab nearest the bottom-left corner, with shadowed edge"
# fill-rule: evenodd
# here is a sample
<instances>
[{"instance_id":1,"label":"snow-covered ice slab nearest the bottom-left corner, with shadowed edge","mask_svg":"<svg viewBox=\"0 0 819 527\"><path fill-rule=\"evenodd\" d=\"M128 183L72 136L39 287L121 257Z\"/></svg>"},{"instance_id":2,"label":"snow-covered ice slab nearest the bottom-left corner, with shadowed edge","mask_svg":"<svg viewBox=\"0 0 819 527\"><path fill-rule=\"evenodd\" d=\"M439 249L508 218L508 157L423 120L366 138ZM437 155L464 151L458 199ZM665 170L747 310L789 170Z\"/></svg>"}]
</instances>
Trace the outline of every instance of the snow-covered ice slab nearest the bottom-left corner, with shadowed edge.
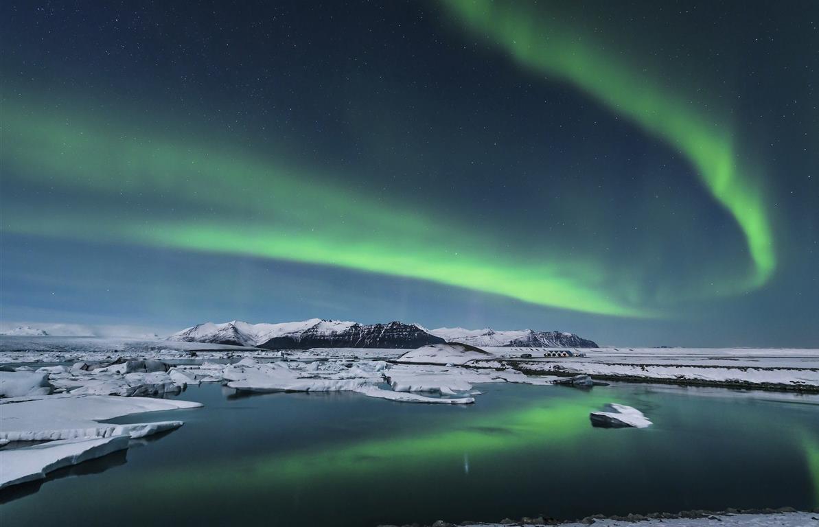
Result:
<instances>
[{"instance_id":1,"label":"snow-covered ice slab nearest the bottom-left corner, with shadowed edge","mask_svg":"<svg viewBox=\"0 0 819 527\"><path fill-rule=\"evenodd\" d=\"M128 448L128 435L62 439L32 447L0 450L0 489L41 480L48 472Z\"/></svg>"}]
</instances>

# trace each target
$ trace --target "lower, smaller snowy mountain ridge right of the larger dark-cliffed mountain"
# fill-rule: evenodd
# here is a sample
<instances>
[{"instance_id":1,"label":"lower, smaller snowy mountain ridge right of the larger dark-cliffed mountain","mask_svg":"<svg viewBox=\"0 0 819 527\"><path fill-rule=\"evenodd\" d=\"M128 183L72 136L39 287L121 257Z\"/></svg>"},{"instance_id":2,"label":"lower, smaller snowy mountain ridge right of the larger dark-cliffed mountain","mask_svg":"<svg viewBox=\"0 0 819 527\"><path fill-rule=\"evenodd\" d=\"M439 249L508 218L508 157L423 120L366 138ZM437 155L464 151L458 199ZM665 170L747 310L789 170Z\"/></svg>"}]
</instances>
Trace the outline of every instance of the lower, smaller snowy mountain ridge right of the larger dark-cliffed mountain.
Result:
<instances>
[{"instance_id":1,"label":"lower, smaller snowy mountain ridge right of the larger dark-cliffed mountain","mask_svg":"<svg viewBox=\"0 0 819 527\"><path fill-rule=\"evenodd\" d=\"M502 346L520 348L598 348L592 340L562 331L495 331L491 328L468 330L463 327L439 327L427 330L447 342L473 346Z\"/></svg>"}]
</instances>

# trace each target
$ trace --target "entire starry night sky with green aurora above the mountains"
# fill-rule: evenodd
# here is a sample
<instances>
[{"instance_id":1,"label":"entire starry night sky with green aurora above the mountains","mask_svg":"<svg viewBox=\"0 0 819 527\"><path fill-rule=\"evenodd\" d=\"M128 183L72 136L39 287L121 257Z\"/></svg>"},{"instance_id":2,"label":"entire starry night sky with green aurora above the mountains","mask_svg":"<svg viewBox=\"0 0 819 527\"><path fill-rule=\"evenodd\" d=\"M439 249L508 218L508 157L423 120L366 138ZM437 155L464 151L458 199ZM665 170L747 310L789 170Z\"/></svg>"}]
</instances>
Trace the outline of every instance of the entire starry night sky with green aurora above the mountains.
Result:
<instances>
[{"instance_id":1,"label":"entire starry night sky with green aurora above the mountains","mask_svg":"<svg viewBox=\"0 0 819 527\"><path fill-rule=\"evenodd\" d=\"M751 4L2 2L2 323L819 347L819 5Z\"/></svg>"}]
</instances>

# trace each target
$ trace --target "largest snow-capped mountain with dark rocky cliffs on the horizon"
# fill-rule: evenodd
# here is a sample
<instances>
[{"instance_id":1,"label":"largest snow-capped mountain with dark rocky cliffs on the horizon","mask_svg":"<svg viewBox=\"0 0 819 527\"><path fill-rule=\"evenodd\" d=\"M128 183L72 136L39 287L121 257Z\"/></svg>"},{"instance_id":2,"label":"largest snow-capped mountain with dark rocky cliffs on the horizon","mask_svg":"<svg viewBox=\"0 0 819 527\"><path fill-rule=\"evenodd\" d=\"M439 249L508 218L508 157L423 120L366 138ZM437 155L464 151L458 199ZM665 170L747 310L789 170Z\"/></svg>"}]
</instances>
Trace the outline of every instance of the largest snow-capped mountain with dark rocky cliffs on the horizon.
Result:
<instances>
[{"instance_id":1,"label":"largest snow-capped mountain with dark rocky cliffs on the horizon","mask_svg":"<svg viewBox=\"0 0 819 527\"><path fill-rule=\"evenodd\" d=\"M414 324L389 322L364 325L311 318L303 322L250 324L248 322L206 322L174 333L168 340L210 342L252 346L266 349L310 348L405 348L441 344L444 339L432 336Z\"/></svg>"}]
</instances>

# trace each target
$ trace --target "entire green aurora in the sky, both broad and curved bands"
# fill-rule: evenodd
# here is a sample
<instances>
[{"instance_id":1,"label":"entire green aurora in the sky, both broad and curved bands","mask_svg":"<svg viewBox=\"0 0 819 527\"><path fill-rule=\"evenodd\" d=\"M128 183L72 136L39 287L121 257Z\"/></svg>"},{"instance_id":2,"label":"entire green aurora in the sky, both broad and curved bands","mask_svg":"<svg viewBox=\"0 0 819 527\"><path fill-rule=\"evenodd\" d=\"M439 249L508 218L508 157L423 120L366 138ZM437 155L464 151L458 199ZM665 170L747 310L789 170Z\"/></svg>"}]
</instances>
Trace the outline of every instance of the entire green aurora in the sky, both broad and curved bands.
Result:
<instances>
[{"instance_id":1,"label":"entire green aurora in the sky, both broad and curved bands","mask_svg":"<svg viewBox=\"0 0 819 527\"><path fill-rule=\"evenodd\" d=\"M723 292L749 291L771 277L776 255L761 190L740 178L724 129L554 23L495 4L446 6L518 63L568 80L686 155L744 232L753 260L753 273L723 283ZM544 33L548 40L540 38ZM145 134L126 124L126 109L102 120L59 107L46 115L42 107L30 96L4 101L4 178L84 197L43 209L4 198L6 232L315 263L620 317L663 318L675 305L650 299L630 270L610 268L594 255L510 246L498 232L475 232L459 214L352 191L326 182L321 171L224 142L214 147Z\"/></svg>"}]
</instances>

